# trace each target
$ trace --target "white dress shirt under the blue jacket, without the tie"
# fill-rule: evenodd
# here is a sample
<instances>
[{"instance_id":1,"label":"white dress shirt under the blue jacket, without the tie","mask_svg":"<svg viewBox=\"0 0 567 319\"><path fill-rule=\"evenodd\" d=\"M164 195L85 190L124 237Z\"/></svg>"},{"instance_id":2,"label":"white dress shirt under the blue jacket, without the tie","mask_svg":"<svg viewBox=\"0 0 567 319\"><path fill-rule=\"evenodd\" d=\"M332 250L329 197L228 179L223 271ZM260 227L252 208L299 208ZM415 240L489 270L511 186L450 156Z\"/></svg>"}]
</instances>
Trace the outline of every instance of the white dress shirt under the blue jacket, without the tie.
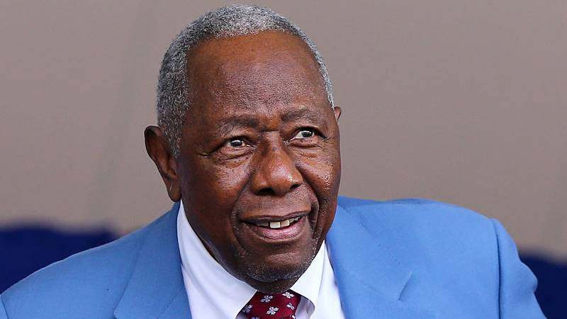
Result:
<instances>
[{"instance_id":1,"label":"white dress shirt under the blue jacket, without the tie","mask_svg":"<svg viewBox=\"0 0 567 319\"><path fill-rule=\"evenodd\" d=\"M187 220L183 203L177 214L181 272L193 319L245 319L242 307L256 289L229 274L210 256ZM335 274L325 242L291 290L301 294L296 318L344 319Z\"/></svg>"}]
</instances>

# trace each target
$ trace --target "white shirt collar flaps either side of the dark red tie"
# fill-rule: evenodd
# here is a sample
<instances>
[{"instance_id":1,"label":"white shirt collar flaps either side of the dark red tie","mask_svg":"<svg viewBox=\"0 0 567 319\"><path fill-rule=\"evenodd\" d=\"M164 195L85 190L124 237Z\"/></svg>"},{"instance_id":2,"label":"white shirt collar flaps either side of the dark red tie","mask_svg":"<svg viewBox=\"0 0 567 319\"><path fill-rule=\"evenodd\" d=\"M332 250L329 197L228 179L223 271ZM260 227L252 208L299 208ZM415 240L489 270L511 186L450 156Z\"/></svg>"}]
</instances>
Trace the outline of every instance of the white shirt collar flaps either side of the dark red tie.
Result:
<instances>
[{"instance_id":1,"label":"white shirt collar flaps either side of the dark red tie","mask_svg":"<svg viewBox=\"0 0 567 319\"><path fill-rule=\"evenodd\" d=\"M198 238L185 215L183 202L179 205L177 216L177 234L181 267L189 276L195 291L203 294L211 309L222 311L222 318L235 318L242 307L254 296L256 289L229 274L210 256L203 242ZM320 293L323 267L327 257L325 242L315 255L308 269L299 277L291 290L301 294L313 305L317 306ZM191 260L191 262L189 262ZM186 287L189 291L189 287Z\"/></svg>"}]
</instances>

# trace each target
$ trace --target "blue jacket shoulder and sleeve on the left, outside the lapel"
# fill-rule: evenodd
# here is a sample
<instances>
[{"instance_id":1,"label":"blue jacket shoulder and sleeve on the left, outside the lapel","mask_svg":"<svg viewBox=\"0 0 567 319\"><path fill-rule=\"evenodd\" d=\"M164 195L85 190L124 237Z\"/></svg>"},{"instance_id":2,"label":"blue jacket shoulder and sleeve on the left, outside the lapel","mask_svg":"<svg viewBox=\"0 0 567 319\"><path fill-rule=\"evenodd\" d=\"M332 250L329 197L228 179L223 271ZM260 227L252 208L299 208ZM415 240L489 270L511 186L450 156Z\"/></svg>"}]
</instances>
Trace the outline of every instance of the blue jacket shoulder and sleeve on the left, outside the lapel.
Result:
<instances>
[{"instance_id":1,"label":"blue jacket shoulder and sleeve on the left, outside the lapel","mask_svg":"<svg viewBox=\"0 0 567 319\"><path fill-rule=\"evenodd\" d=\"M161 218L159 218L161 219ZM159 220L158 219L158 220ZM106 245L73 254L30 274L1 294L9 318L108 318L122 296L151 223Z\"/></svg>"}]
</instances>

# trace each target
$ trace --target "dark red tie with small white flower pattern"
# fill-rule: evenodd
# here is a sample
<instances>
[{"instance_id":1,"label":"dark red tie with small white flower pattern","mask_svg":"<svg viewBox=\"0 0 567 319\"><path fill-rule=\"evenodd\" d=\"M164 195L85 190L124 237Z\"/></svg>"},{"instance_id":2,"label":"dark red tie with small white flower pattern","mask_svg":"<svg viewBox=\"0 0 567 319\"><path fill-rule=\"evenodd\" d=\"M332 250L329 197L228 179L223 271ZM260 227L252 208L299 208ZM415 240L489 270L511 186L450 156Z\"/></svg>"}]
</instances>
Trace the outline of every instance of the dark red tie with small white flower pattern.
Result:
<instances>
[{"instance_id":1,"label":"dark red tie with small white flower pattern","mask_svg":"<svg viewBox=\"0 0 567 319\"><path fill-rule=\"evenodd\" d=\"M266 295L257 291L242 308L248 319L290 319L296 318L296 308L301 297L288 290L277 295Z\"/></svg>"}]
</instances>

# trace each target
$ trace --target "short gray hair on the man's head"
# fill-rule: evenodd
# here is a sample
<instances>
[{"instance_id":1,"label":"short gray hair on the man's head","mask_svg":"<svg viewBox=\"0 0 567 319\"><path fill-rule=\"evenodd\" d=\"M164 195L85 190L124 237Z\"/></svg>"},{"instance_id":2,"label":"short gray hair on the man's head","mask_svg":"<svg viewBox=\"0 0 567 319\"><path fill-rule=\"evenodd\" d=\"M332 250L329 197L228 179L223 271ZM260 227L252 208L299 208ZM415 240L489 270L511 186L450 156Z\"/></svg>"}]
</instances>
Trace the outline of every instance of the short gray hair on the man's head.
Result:
<instances>
[{"instance_id":1,"label":"short gray hair on the man's head","mask_svg":"<svg viewBox=\"0 0 567 319\"><path fill-rule=\"evenodd\" d=\"M262 31L281 31L296 35L309 47L325 86L325 94L334 108L327 67L315 44L287 18L271 9L256 5L233 4L205 13L189 23L165 52L157 82L157 125L164 131L174 157L179 157L181 128L190 106L187 82L187 54L191 48L212 38L230 38Z\"/></svg>"}]
</instances>

